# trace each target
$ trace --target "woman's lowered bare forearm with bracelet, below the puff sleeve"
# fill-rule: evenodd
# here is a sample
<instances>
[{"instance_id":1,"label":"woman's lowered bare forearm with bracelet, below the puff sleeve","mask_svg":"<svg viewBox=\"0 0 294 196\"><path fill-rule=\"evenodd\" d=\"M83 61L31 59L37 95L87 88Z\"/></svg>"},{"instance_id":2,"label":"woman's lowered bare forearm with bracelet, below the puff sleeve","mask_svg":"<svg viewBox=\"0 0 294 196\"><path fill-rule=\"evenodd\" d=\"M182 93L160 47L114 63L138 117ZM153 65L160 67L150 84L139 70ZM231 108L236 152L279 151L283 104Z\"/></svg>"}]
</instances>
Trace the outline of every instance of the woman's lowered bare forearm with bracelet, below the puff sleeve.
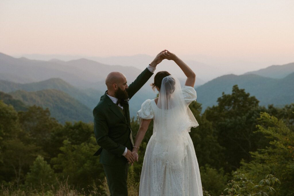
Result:
<instances>
[{"instance_id":1,"label":"woman's lowered bare forearm with bracelet, below the puff sleeve","mask_svg":"<svg viewBox=\"0 0 294 196\"><path fill-rule=\"evenodd\" d=\"M140 123L140 128L138 130L135 142L134 142L134 147L133 147L133 151L132 154L134 155L136 161L138 161L138 150L139 150L139 146L145 136L145 133L148 129L148 126L150 124L152 119L141 119L141 123Z\"/></svg>"}]
</instances>

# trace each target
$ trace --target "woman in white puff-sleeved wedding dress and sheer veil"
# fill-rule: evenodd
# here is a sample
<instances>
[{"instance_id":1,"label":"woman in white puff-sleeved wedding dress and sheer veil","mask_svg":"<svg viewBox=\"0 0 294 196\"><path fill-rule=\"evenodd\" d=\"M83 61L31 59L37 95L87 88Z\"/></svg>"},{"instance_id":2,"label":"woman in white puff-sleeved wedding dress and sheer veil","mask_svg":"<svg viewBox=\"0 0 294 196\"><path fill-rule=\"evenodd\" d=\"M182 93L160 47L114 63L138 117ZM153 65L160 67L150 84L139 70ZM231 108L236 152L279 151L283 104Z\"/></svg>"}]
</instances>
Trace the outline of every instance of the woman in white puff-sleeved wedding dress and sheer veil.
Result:
<instances>
[{"instance_id":1,"label":"woman in white puff-sleeved wedding dress and sheer veil","mask_svg":"<svg viewBox=\"0 0 294 196\"><path fill-rule=\"evenodd\" d=\"M138 160L139 146L153 119L151 136L144 156L140 196L203 195L199 166L190 132L198 123L188 105L196 100L195 73L176 55L165 51L164 58L173 60L187 76L185 86L166 71L154 77L153 90L158 98L147 99L137 112L140 128L133 155Z\"/></svg>"}]
</instances>

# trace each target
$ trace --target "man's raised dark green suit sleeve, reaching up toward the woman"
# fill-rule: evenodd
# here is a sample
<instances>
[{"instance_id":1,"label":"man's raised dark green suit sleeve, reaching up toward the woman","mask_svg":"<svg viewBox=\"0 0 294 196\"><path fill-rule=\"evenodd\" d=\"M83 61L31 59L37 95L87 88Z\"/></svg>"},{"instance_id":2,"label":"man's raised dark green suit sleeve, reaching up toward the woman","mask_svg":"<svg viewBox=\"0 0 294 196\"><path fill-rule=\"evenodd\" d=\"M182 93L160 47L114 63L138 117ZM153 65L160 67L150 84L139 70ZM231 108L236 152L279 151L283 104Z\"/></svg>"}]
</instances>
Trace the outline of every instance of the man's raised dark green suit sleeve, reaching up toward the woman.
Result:
<instances>
[{"instance_id":1,"label":"man's raised dark green suit sleeve, reaching up toward the woman","mask_svg":"<svg viewBox=\"0 0 294 196\"><path fill-rule=\"evenodd\" d=\"M153 73L147 68L142 71L142 73L140 73L136 80L128 86L127 91L129 99L131 99L135 95L135 93L140 90L140 88L149 80L152 75Z\"/></svg>"}]
</instances>

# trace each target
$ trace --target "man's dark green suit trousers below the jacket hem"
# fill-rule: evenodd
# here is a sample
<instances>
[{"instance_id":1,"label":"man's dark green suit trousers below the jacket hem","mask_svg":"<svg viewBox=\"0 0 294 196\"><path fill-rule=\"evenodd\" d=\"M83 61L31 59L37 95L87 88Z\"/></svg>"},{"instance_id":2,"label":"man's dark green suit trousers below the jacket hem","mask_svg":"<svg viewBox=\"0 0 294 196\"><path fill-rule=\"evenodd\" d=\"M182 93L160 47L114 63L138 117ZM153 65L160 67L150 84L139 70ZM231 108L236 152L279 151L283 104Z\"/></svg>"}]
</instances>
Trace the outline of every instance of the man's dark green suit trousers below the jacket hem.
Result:
<instances>
[{"instance_id":1,"label":"man's dark green suit trousers below the jacket hem","mask_svg":"<svg viewBox=\"0 0 294 196\"><path fill-rule=\"evenodd\" d=\"M104 165L103 169L106 175L109 191L111 196L127 196L127 178L128 163L125 165Z\"/></svg>"}]
</instances>

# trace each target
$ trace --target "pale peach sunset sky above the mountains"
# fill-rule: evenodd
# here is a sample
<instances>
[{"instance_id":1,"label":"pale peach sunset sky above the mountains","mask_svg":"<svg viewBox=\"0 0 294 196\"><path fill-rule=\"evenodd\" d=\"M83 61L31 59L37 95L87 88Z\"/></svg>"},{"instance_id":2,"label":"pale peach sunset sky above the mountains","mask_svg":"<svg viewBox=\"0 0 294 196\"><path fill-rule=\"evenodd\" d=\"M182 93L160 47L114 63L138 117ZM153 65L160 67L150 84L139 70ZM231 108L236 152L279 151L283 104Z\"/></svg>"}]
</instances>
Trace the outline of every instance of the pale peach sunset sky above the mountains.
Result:
<instances>
[{"instance_id":1,"label":"pale peach sunset sky above the mountains","mask_svg":"<svg viewBox=\"0 0 294 196\"><path fill-rule=\"evenodd\" d=\"M294 1L1 0L0 52L294 62Z\"/></svg>"}]
</instances>

